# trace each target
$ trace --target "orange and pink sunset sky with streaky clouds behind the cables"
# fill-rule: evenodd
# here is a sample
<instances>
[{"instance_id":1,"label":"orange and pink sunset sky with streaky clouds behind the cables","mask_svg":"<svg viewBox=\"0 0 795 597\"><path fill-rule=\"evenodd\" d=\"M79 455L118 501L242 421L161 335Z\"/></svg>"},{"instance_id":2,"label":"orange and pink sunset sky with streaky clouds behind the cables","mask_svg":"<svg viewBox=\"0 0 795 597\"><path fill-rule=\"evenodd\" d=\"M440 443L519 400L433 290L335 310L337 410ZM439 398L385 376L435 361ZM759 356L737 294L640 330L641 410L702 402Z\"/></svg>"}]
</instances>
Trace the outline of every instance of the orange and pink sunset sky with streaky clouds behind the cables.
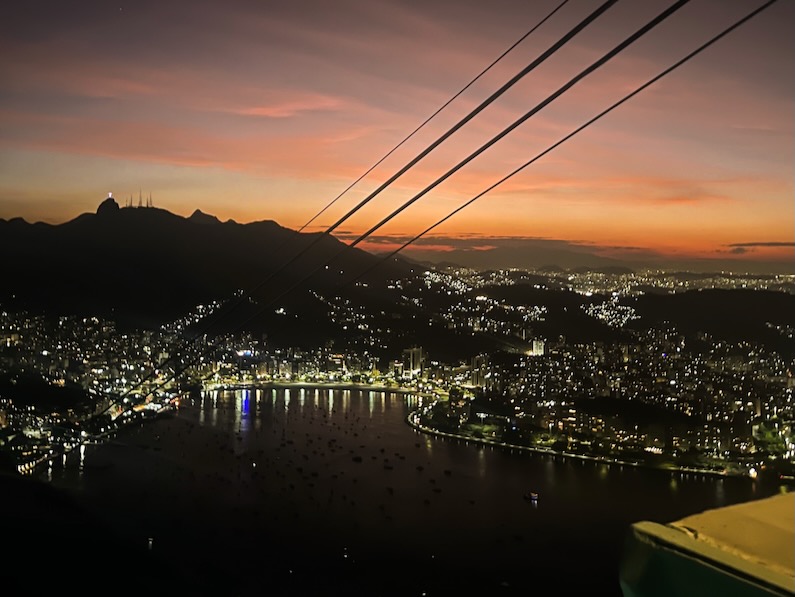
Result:
<instances>
[{"instance_id":1,"label":"orange and pink sunset sky with streaky clouds behind the cables","mask_svg":"<svg viewBox=\"0 0 795 597\"><path fill-rule=\"evenodd\" d=\"M563 3L333 201L561 1L5 3L0 218L57 224L113 193L325 230L601 4ZM671 4L619 0L334 234L357 238ZM359 246L414 237L762 4L692 0ZM405 253L547 243L795 273L793 23L779 0Z\"/></svg>"}]
</instances>

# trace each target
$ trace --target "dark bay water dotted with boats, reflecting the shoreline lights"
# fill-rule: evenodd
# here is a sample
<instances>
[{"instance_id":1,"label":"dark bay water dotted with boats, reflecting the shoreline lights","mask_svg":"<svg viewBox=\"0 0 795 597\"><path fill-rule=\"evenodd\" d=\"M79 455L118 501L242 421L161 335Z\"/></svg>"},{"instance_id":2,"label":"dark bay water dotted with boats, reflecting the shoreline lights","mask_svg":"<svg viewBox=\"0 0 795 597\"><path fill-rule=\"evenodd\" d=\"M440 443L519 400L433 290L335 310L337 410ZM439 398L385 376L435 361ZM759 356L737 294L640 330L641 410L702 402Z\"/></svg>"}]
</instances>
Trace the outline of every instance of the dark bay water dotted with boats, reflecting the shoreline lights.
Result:
<instances>
[{"instance_id":1,"label":"dark bay water dotted with boats, reflecting the shoreline lights","mask_svg":"<svg viewBox=\"0 0 795 597\"><path fill-rule=\"evenodd\" d=\"M426 436L416 400L207 394L44 475L208 595L618 596L631 523L779 491Z\"/></svg>"}]
</instances>

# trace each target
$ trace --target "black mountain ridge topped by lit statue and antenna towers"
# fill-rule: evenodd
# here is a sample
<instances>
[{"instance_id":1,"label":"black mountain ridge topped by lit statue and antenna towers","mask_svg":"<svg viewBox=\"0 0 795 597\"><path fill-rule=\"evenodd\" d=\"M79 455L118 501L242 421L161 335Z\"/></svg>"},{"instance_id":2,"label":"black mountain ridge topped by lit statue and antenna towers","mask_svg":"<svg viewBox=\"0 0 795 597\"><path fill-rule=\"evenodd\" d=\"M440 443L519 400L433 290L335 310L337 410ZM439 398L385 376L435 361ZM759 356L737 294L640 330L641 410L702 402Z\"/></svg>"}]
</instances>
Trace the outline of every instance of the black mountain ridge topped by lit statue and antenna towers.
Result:
<instances>
[{"instance_id":1,"label":"black mountain ridge topped by lit statue and antenna towers","mask_svg":"<svg viewBox=\"0 0 795 597\"><path fill-rule=\"evenodd\" d=\"M121 208L59 224L0 219L0 303L158 324L243 290L260 301L305 297L362 280L404 277L411 265L350 248L330 235L273 221L221 222L155 207ZM285 298L284 300L288 300ZM301 298L301 300L305 300Z\"/></svg>"}]
</instances>

